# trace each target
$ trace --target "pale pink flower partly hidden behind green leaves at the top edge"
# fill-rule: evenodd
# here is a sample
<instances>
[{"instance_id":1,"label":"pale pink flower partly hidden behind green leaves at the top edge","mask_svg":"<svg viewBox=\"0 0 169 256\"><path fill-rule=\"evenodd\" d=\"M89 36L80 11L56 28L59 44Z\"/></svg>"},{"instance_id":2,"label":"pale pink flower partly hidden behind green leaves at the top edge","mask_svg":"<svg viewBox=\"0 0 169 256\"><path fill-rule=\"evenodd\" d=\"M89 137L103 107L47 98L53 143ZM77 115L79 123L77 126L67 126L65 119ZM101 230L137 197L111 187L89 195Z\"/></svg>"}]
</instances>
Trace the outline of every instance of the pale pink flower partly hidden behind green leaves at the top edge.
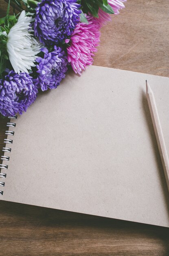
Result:
<instances>
[{"instance_id":1,"label":"pale pink flower partly hidden behind green leaves at the top edge","mask_svg":"<svg viewBox=\"0 0 169 256\"><path fill-rule=\"evenodd\" d=\"M119 9L125 8L123 2L127 0L108 0L108 4L112 7L114 14L119 14ZM101 8L98 11L99 20L101 26L105 25L108 21L111 21L111 14L105 13Z\"/></svg>"}]
</instances>

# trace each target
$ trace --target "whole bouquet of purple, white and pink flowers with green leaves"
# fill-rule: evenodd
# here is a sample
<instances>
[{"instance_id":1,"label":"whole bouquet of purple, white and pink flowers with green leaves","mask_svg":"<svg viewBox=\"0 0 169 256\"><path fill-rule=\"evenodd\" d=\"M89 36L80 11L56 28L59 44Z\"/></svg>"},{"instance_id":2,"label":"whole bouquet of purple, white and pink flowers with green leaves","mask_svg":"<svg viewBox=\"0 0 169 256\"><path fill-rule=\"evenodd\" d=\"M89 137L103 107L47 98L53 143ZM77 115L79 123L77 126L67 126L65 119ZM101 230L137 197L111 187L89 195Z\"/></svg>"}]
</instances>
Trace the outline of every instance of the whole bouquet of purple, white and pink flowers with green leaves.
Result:
<instances>
[{"instance_id":1,"label":"whole bouquet of purple, white and pink flowers with green leaves","mask_svg":"<svg viewBox=\"0 0 169 256\"><path fill-rule=\"evenodd\" d=\"M10 0L0 18L0 115L22 114L40 90L55 89L68 66L92 65L100 28L126 0ZM15 13L15 10L17 14Z\"/></svg>"}]
</instances>

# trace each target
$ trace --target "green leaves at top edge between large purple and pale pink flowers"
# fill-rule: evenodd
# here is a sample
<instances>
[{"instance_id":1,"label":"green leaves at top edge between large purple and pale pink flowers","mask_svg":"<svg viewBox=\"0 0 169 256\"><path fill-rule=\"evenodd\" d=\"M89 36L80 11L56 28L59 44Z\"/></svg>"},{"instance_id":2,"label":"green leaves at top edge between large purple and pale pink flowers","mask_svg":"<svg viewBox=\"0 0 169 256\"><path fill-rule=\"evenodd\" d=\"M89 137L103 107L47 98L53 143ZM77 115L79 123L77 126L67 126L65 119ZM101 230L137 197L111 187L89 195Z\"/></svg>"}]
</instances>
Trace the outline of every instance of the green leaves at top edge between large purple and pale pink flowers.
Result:
<instances>
[{"instance_id":1,"label":"green leaves at top edge between large purple and pale pink flowers","mask_svg":"<svg viewBox=\"0 0 169 256\"><path fill-rule=\"evenodd\" d=\"M108 0L81 0L81 5L84 13L90 12L96 18L98 18L99 7L106 13L114 13L112 7L108 4Z\"/></svg>"}]
</instances>

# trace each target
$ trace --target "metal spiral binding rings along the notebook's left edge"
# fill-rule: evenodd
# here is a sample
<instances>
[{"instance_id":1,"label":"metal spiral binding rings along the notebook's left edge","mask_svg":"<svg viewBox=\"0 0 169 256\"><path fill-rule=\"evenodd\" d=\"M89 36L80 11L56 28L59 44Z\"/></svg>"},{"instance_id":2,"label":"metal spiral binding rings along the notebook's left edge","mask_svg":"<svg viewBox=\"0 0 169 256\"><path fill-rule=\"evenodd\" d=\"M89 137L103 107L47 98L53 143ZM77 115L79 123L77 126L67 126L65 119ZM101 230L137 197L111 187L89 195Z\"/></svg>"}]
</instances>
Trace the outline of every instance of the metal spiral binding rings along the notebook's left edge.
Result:
<instances>
[{"instance_id":1,"label":"metal spiral binding rings along the notebook's left edge","mask_svg":"<svg viewBox=\"0 0 169 256\"><path fill-rule=\"evenodd\" d=\"M17 115L15 115L14 117L8 117L9 119L17 119ZM16 124L15 123L12 123L12 122L9 122L7 123L7 127L15 127ZM13 136L14 135L14 132L13 131L9 131L7 130L5 132L6 135L11 135ZM4 139L4 143L5 144L12 144L13 143L13 140L12 139ZM3 152L11 152L11 148L8 148L8 147L4 147L2 148L2 151ZM5 161L9 161L9 157L8 156L5 156L5 155L2 155L1 156L1 160L5 160ZM8 168L8 165L7 164L0 164L0 169L2 170L7 170ZM0 173L0 178L6 178L7 177L7 174L6 173ZM5 182L0 182L0 186L4 186L5 185ZM3 191L0 191L0 195L3 195Z\"/></svg>"}]
</instances>

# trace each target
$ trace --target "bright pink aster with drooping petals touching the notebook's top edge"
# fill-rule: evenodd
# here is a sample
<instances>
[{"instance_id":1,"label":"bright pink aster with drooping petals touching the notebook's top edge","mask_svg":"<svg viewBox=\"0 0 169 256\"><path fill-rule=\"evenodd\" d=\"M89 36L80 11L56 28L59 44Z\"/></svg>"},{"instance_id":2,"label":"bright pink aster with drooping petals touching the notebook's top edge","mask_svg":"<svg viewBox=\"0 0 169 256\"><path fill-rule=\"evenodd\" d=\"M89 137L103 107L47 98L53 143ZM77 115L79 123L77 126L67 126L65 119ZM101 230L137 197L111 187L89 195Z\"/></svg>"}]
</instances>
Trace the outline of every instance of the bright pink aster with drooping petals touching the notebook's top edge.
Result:
<instances>
[{"instance_id":1,"label":"bright pink aster with drooping petals touching the notebook's top edge","mask_svg":"<svg viewBox=\"0 0 169 256\"><path fill-rule=\"evenodd\" d=\"M76 25L71 36L70 46L67 48L68 62L77 74L81 74L87 65L92 65L94 52L100 42L100 25L98 19L86 16L87 23L80 22ZM68 43L66 41L66 43Z\"/></svg>"}]
</instances>

